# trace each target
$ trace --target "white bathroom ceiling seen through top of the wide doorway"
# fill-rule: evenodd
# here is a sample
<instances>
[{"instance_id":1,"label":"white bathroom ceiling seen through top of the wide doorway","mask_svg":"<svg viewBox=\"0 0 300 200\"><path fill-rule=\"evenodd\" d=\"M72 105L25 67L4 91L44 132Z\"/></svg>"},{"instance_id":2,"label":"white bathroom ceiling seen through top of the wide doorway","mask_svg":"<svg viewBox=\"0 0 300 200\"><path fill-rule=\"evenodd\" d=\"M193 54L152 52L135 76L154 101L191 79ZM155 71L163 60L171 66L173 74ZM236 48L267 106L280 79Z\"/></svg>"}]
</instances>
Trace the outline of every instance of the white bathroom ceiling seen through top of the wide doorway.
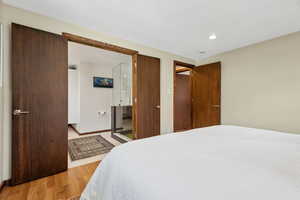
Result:
<instances>
[{"instance_id":1,"label":"white bathroom ceiling seen through top of the wide doorway","mask_svg":"<svg viewBox=\"0 0 300 200\"><path fill-rule=\"evenodd\" d=\"M113 68L120 63L131 62L131 56L74 42L68 43L68 54L69 65L85 63Z\"/></svg>"}]
</instances>

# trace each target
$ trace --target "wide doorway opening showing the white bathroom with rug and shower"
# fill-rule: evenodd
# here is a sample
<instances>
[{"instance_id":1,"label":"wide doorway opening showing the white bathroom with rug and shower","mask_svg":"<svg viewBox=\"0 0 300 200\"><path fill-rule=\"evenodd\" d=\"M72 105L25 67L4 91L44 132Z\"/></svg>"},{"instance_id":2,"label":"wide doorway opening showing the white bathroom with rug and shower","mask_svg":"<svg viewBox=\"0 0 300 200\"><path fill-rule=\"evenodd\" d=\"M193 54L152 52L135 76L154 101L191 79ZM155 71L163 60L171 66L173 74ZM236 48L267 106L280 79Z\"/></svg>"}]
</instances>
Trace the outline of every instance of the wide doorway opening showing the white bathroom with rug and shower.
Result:
<instances>
[{"instance_id":1,"label":"wide doorway opening showing the white bathroom with rug and shower","mask_svg":"<svg viewBox=\"0 0 300 200\"><path fill-rule=\"evenodd\" d=\"M68 41L68 167L133 140L132 57Z\"/></svg>"}]
</instances>

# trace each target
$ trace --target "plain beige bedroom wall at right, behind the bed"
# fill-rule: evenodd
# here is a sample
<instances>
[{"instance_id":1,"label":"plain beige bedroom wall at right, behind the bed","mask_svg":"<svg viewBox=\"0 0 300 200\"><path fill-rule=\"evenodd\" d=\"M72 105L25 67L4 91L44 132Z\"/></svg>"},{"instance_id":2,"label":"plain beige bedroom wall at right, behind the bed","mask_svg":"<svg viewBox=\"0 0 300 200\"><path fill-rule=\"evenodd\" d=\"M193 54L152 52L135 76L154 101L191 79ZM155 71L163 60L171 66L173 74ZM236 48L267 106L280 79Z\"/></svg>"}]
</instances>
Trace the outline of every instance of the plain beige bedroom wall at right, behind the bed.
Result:
<instances>
[{"instance_id":1,"label":"plain beige bedroom wall at right, behind the bed","mask_svg":"<svg viewBox=\"0 0 300 200\"><path fill-rule=\"evenodd\" d=\"M300 133L300 32L201 60L222 62L222 124Z\"/></svg>"}]
</instances>

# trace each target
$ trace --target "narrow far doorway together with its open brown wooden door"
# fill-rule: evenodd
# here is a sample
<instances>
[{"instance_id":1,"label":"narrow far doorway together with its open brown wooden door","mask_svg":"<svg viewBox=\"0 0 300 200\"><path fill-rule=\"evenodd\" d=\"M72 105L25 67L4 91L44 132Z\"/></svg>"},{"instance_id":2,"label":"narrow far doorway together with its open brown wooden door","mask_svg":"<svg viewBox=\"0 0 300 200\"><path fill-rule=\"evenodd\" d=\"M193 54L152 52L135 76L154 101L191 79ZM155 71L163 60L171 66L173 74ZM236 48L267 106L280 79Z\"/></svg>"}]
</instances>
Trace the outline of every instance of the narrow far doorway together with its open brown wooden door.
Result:
<instances>
[{"instance_id":1,"label":"narrow far doorway together with its open brown wooden door","mask_svg":"<svg viewBox=\"0 0 300 200\"><path fill-rule=\"evenodd\" d=\"M221 123L221 62L174 61L174 132Z\"/></svg>"}]
</instances>

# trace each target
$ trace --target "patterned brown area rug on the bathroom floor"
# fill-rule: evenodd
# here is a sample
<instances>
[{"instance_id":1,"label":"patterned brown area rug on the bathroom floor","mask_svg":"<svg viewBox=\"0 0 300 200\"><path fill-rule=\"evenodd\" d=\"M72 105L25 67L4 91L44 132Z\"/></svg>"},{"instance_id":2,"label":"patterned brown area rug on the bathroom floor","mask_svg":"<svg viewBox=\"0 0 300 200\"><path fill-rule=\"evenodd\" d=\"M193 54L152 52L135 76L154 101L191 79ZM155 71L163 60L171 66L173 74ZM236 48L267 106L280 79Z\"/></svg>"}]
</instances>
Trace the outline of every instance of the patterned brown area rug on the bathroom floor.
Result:
<instances>
[{"instance_id":1,"label":"patterned brown area rug on the bathroom floor","mask_svg":"<svg viewBox=\"0 0 300 200\"><path fill-rule=\"evenodd\" d=\"M101 135L69 140L69 153L72 161L105 154L112 148L114 145Z\"/></svg>"}]
</instances>

